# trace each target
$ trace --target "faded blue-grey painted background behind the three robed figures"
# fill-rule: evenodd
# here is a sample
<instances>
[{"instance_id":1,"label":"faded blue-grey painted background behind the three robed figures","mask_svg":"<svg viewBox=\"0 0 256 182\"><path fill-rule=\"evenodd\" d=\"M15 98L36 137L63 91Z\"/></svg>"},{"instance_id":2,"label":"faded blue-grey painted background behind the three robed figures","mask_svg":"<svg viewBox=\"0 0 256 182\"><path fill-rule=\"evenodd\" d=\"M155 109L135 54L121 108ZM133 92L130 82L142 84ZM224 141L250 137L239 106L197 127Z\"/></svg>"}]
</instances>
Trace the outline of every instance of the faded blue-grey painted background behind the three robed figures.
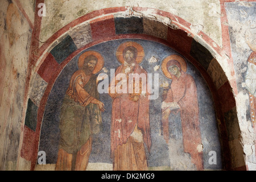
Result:
<instances>
[{"instance_id":1,"label":"faded blue-grey painted background behind the three robed figures","mask_svg":"<svg viewBox=\"0 0 256 182\"><path fill-rule=\"evenodd\" d=\"M114 57L115 49L118 47L119 44L122 42L125 42L126 39L119 39L119 40L112 40L109 42L104 42L97 44L93 47L90 47L89 49L96 50L98 52L101 52L102 56L105 57L105 65L104 68L107 70L117 68L119 65L116 57ZM162 71L159 69L159 63L169 54L176 53L171 48L168 48L166 46L163 46L162 44L150 42L148 40L136 40L133 39L133 41L142 44L142 46L145 48L145 52L147 53L145 55L144 61L141 64L141 66L147 70L148 73L158 73L160 75L160 82L164 82L164 85L170 85L168 82L171 82L170 79L167 79ZM61 51L61 49L60 49ZM58 122L58 113L59 113L59 106L62 101L62 96L65 92L65 88L67 88L67 78L72 75L72 73L77 69L76 68L76 60L79 55L77 55L74 59L72 59L68 65L65 66L63 71L60 73L59 77L57 78L55 84L53 85L53 88L51 89L51 93L48 97L48 102L46 105L46 110L44 112L43 117L43 123L42 123L42 130L41 130L41 136L40 136L40 144L39 144L39 150L46 151L48 154L47 163L54 164L56 160L56 148L57 148L57 136L58 129L56 122ZM158 57L158 61L153 61L154 63L150 63L149 59L152 57ZM157 67L158 69L154 69ZM201 121L201 127L202 127L202 145L195 148L196 152L203 151L204 152L204 161L205 161L205 169L221 169L221 159L220 159L220 148L218 148L218 134L217 132L217 121L214 117L214 111L213 111L213 105L210 104L211 98L209 95L209 90L207 89L207 85L205 85L204 81L202 80L202 77L199 75L198 71L192 66L192 64L188 63L188 72L189 74L193 75L195 77L195 80L197 82L197 86L199 88L199 98L200 98L200 121ZM109 76L109 72L108 77ZM150 122L151 122L151 134L152 134L152 140L153 145L151 148L151 155L148 156L148 164L151 169L156 169L159 166L162 166L162 168L166 168L169 166L169 169L195 169L191 165L191 158L189 158L188 154L185 154L185 152L180 148L180 146L177 146L175 144L177 143L170 143L170 150L167 149L167 144L163 140L163 136L159 135L159 129L160 129L160 107L159 105L162 103L162 90L163 88L160 88L159 91L159 97L157 100L152 100L150 105ZM93 151L91 154L91 163L102 163L105 161L106 164L111 164L112 160L110 159L110 152L109 152L109 144L110 144L110 118L112 115L111 110L111 104L112 100L110 97L108 97L106 94L101 94L101 101L104 102L106 111L102 113L102 130L100 135L96 135L95 138L96 142L94 142ZM202 100L204 98L204 100ZM57 104L59 103L59 104ZM56 105L57 104L57 105ZM206 106L207 105L207 106ZM205 110L207 109L207 110ZM170 118L174 118L171 121L171 127L170 130L172 130L172 135L177 135L178 139L177 142L182 145L182 136L181 136L181 125L179 116L173 116ZM57 119L57 120L56 120ZM123 121L119 118L116 119L118 123L122 123ZM128 120L127 123L131 123L131 120ZM49 130L51 129L51 130ZM114 131L114 133L117 134L119 138L121 138L121 130L117 129ZM47 135L45 135L47 134ZM134 133L133 136L135 138L138 138L137 140L141 140L141 133ZM55 136L54 139L52 136ZM181 142L181 143L180 143ZM104 143L102 145L101 143ZM51 146L51 147L49 147ZM204 146L204 147L203 147ZM214 150L218 154L218 165L217 166L209 166L208 162L208 152ZM97 151L100 151L101 154L98 154ZM179 158L176 158L176 162L179 163L180 160L184 160L184 155L188 156L186 160L184 160L184 164L188 165L188 167L184 166L176 166L176 162L173 158L169 159L169 152L175 154L175 156L179 156ZM159 155L161 154L161 155ZM103 158L104 157L104 158ZM170 164L169 164L170 163ZM176 168L174 168L176 166Z\"/></svg>"}]
</instances>

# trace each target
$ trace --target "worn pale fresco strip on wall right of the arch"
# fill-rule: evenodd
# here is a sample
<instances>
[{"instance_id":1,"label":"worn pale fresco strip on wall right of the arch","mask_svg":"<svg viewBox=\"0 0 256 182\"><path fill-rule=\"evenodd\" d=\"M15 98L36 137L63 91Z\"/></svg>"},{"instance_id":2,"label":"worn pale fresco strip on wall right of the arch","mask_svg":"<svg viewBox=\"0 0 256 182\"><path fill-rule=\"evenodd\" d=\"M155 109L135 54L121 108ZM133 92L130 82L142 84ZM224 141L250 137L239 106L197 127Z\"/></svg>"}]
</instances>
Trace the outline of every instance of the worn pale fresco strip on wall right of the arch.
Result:
<instances>
[{"instance_id":1,"label":"worn pale fresco strip on wall right of the arch","mask_svg":"<svg viewBox=\"0 0 256 182\"><path fill-rule=\"evenodd\" d=\"M256 64L256 2L226 3L232 56L237 79L237 104L240 108L238 119L241 129L255 131L255 64ZM244 136L247 150L247 166L255 169L255 146L251 146L253 137Z\"/></svg>"}]
</instances>

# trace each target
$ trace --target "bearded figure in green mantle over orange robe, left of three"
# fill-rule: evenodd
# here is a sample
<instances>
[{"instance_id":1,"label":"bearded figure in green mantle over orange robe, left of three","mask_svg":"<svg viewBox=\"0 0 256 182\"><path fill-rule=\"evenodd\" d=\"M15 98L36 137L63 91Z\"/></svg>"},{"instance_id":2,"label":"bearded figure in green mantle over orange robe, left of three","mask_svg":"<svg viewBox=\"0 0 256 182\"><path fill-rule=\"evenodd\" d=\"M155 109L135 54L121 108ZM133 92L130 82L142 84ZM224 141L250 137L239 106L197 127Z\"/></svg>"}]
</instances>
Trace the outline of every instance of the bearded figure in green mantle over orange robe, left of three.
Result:
<instances>
[{"instance_id":1,"label":"bearded figure in green mantle over orange robe, left of three","mask_svg":"<svg viewBox=\"0 0 256 182\"><path fill-rule=\"evenodd\" d=\"M60 113L60 142L55 170L85 170L92 150L92 134L99 131L104 104L99 101L97 77L92 73L97 57L85 58L71 78Z\"/></svg>"}]
</instances>

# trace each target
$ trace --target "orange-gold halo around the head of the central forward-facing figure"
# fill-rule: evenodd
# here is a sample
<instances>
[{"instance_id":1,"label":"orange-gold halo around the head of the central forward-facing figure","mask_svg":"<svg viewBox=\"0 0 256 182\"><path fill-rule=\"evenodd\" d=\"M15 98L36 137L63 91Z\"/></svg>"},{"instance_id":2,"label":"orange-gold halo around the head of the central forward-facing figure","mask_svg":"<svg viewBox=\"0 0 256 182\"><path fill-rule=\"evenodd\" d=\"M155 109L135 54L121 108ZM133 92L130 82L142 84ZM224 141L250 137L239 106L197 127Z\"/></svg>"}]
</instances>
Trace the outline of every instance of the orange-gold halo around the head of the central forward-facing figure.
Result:
<instances>
[{"instance_id":1,"label":"orange-gold halo around the head of the central forward-facing figure","mask_svg":"<svg viewBox=\"0 0 256 182\"><path fill-rule=\"evenodd\" d=\"M122 43L120 46L118 46L117 48L117 51L115 52L115 56L117 56L117 60L119 61L119 63L123 64L125 63L125 60L123 59L123 50L126 48L126 47L129 47L129 46L133 46L137 49L138 53L137 53L137 58L136 58L136 62L138 64L140 64L144 58L144 49L143 47L141 46L141 44L138 44L136 42L124 42Z\"/></svg>"}]
</instances>

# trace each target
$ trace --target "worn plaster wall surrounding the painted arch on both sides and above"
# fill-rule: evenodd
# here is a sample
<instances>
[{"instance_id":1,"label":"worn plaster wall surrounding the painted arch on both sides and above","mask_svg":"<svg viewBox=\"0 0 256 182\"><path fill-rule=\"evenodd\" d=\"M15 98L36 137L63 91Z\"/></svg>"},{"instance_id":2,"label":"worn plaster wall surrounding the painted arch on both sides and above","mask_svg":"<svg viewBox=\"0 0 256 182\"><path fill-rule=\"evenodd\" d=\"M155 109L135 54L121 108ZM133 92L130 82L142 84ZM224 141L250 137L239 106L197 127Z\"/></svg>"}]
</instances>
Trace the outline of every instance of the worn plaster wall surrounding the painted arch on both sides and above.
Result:
<instances>
[{"instance_id":1,"label":"worn plaster wall surrounding the painted arch on both sides and above","mask_svg":"<svg viewBox=\"0 0 256 182\"><path fill-rule=\"evenodd\" d=\"M39 1L38 1L39 2ZM193 39L203 45L212 54L213 60L207 69L218 92L222 92L223 85L228 81L231 91L236 98L235 107L226 113L229 122L229 144L232 156L232 168L247 165L247 170L255 170L255 131L251 123L249 112L249 96L243 88L244 74L247 69L246 60L252 50L245 40L246 28L251 28L251 20L255 14L255 2L225 2L225 1L52 1L47 0L46 16L42 17L40 29L36 30L38 22L38 8L36 1L1 1L0 6L0 168L4 170L30 169L31 162L20 157L24 135L24 121L27 111L27 101L35 96L34 101L39 105L42 95L35 88L45 90L47 82L37 73L44 55L50 52L57 43L61 42L64 33L57 34L57 41L53 41L40 59L31 63L31 40L34 40L33 30L38 33L36 42L42 48L45 43L56 35L61 28L82 16L101 11L102 9L125 7L115 16L129 17L131 15L158 20L166 26L159 28L166 32L167 27L181 28L190 32ZM168 6L167 6L168 5ZM142 7L147 9L136 9ZM180 19L171 19L159 15L159 11L179 16L188 22L188 26ZM225 10L225 11L224 11ZM161 11L161 12L162 12ZM103 11L102 11L103 12ZM98 14L95 20L113 13ZM89 23L89 21L88 21ZM159 25L160 25L159 24ZM178 26L177 26L178 24ZM35 26L35 27L34 27ZM255 27L252 27L255 28ZM35 31L36 30L36 31ZM203 32L203 34L202 34ZM150 35L155 36L155 32ZM158 37L167 39L159 34ZM65 36L64 36L65 37ZM75 35L73 36L75 37ZM55 40L56 40L55 39ZM251 42L255 35L251 36ZM85 43L85 42L84 42ZM219 74L220 69L223 75ZM31 72L31 75L28 74ZM26 87L28 91L26 92ZM34 88L34 89L33 89ZM242 147L241 147L242 146ZM237 157L240 155L240 157ZM17 163L18 162L18 163ZM245 163L246 162L246 163ZM40 167L38 167L40 168ZM44 167L46 169L47 167ZM106 167L107 168L107 167ZM47 169L52 169L49 166Z\"/></svg>"}]
</instances>

